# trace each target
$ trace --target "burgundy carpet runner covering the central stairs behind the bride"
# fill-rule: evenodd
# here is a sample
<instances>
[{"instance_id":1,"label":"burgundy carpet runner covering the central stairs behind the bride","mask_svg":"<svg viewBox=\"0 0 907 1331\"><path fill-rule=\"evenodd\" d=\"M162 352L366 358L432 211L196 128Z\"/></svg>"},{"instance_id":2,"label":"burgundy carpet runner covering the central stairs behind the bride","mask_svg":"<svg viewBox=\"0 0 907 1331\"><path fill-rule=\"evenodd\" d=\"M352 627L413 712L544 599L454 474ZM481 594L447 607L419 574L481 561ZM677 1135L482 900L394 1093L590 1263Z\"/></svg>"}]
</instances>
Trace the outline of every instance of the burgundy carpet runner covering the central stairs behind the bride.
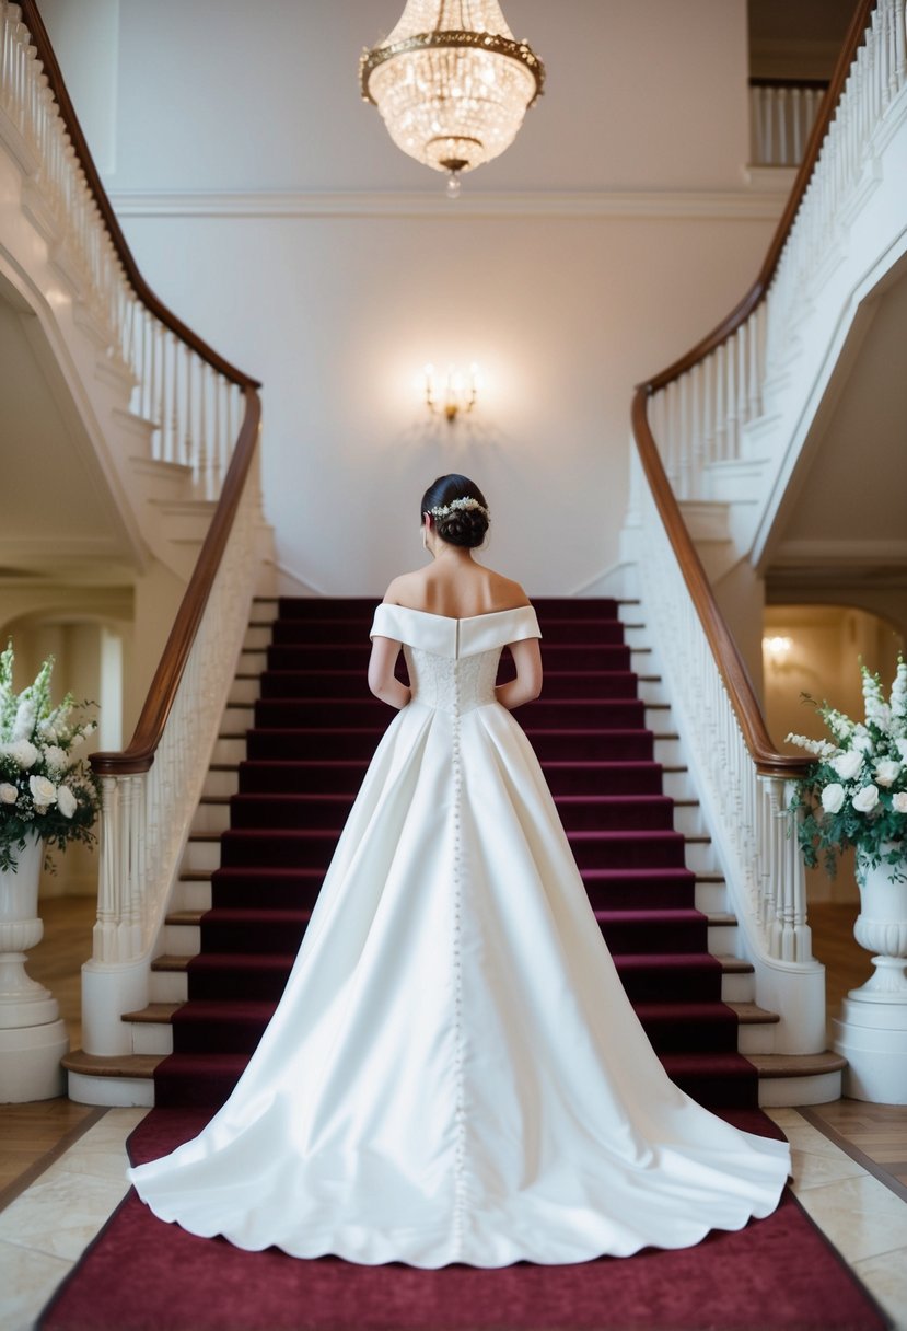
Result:
<instances>
[{"instance_id":1,"label":"burgundy carpet runner covering the central stairs behind the bride","mask_svg":"<svg viewBox=\"0 0 907 1331\"><path fill-rule=\"evenodd\" d=\"M537 600L543 697L525 728L624 986L674 1081L713 1109L754 1107L721 964L673 804L662 793L630 652L610 600ZM286 984L338 835L391 720L366 685L372 600L281 602L239 793L189 962L158 1106L217 1107ZM505 654L503 675L509 662Z\"/></svg>"}]
</instances>

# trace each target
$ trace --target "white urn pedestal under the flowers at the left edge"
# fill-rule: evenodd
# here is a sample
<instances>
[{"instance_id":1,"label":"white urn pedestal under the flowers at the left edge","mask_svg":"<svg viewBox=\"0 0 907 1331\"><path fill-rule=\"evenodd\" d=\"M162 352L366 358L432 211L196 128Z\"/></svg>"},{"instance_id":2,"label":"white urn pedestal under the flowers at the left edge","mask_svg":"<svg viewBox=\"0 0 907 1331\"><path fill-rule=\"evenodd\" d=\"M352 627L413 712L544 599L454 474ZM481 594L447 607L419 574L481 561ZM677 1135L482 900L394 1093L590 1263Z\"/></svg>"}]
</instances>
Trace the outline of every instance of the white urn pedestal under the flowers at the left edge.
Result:
<instances>
[{"instance_id":1,"label":"white urn pedestal under the flowers at the left edge","mask_svg":"<svg viewBox=\"0 0 907 1331\"><path fill-rule=\"evenodd\" d=\"M0 1103L61 1095L69 1049L56 998L25 973L44 934L37 888L44 843L31 837L15 869L0 869Z\"/></svg>"}]
</instances>

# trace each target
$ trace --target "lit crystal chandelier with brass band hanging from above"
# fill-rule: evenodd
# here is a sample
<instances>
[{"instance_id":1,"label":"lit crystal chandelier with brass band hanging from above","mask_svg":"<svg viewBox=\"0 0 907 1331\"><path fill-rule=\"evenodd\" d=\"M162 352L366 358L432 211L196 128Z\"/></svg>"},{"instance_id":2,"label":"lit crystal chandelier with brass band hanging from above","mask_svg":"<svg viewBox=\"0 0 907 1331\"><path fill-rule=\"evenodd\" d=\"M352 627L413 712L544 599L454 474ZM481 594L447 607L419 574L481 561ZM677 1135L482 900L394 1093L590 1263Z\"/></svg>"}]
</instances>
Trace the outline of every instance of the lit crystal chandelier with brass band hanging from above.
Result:
<instances>
[{"instance_id":1,"label":"lit crystal chandelier with brass band hanging from above","mask_svg":"<svg viewBox=\"0 0 907 1331\"><path fill-rule=\"evenodd\" d=\"M398 148L447 172L452 198L461 172L509 148L544 79L497 0L407 0L396 28L359 60L363 100Z\"/></svg>"}]
</instances>

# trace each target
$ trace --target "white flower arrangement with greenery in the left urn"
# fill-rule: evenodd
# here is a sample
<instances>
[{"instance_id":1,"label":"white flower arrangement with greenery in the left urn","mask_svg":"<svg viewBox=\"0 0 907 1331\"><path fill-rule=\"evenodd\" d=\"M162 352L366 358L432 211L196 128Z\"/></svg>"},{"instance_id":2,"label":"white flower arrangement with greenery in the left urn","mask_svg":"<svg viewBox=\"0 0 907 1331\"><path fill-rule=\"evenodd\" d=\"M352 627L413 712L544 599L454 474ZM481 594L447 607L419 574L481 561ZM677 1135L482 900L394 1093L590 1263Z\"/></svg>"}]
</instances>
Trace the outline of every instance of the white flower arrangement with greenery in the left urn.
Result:
<instances>
[{"instance_id":1,"label":"white flower arrangement with greenery in the left urn","mask_svg":"<svg viewBox=\"0 0 907 1331\"><path fill-rule=\"evenodd\" d=\"M21 693L12 687L12 643L0 654L0 869L16 869L29 836L64 849L94 841L97 777L74 749L96 729L72 693L51 705L53 656Z\"/></svg>"}]
</instances>

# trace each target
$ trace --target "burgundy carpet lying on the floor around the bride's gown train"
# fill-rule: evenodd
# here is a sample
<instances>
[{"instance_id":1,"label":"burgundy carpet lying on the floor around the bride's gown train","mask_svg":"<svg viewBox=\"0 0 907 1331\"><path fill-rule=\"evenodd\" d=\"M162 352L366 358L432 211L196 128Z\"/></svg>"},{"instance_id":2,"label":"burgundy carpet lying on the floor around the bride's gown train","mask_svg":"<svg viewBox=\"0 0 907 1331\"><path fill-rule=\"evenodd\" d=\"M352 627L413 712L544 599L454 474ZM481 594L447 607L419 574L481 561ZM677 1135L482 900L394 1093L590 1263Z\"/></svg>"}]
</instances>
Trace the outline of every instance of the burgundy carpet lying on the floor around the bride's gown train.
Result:
<instances>
[{"instance_id":1,"label":"burgundy carpet lying on the floor around the bride's gown train","mask_svg":"<svg viewBox=\"0 0 907 1331\"><path fill-rule=\"evenodd\" d=\"M207 1113L153 1110L134 1163L194 1135ZM775 1133L753 1111L741 1127ZM880 1331L890 1323L790 1193L765 1221L694 1248L580 1266L416 1271L242 1252L162 1225L130 1191L44 1311L43 1331Z\"/></svg>"}]
</instances>

